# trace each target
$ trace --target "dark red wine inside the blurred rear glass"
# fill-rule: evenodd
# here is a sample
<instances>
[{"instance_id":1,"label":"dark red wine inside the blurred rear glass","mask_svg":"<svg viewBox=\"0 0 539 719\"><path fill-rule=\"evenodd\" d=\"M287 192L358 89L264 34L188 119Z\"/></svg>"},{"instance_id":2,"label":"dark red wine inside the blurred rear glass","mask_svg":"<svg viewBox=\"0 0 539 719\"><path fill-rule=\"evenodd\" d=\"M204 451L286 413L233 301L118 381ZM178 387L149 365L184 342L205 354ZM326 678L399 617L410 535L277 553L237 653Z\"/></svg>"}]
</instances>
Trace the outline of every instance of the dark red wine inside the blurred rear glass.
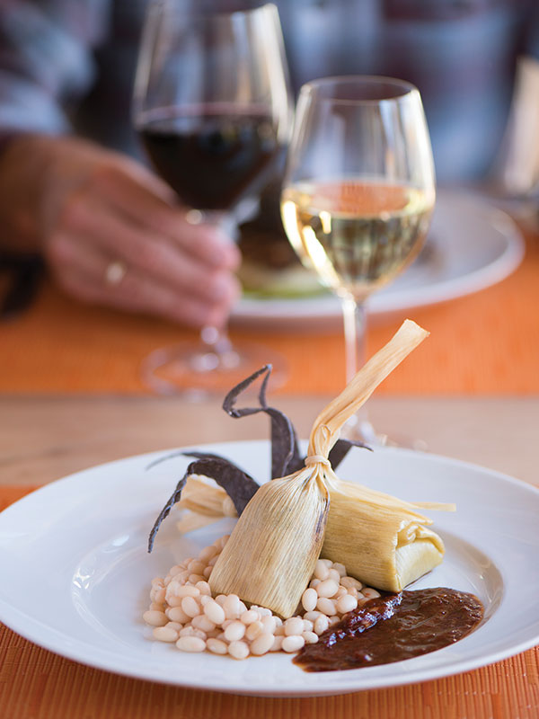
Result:
<instances>
[{"instance_id":1,"label":"dark red wine inside the blurred rear glass","mask_svg":"<svg viewBox=\"0 0 539 719\"><path fill-rule=\"evenodd\" d=\"M278 156L277 129L262 114L202 111L139 128L155 170L197 209L230 209Z\"/></svg>"}]
</instances>

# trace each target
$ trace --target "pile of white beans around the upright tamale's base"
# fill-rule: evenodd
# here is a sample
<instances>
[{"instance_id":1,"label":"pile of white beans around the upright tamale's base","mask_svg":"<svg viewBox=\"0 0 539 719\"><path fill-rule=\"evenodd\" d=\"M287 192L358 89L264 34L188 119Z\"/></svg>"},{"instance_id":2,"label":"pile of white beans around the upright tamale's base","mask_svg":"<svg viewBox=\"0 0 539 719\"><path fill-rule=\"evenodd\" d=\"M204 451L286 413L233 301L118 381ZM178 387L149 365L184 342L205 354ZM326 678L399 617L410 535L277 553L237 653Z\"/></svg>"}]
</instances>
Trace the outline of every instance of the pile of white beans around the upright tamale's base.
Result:
<instances>
[{"instance_id":1,"label":"pile of white beans around the upright tamale's base","mask_svg":"<svg viewBox=\"0 0 539 719\"><path fill-rule=\"evenodd\" d=\"M154 638L182 652L228 654L234 659L267 652L298 652L358 605L379 597L343 564L319 559L296 617L283 621L270 609L247 608L235 594L212 597L208 579L228 537L205 547L196 559L184 559L164 579L156 577L150 607L143 615Z\"/></svg>"}]
</instances>

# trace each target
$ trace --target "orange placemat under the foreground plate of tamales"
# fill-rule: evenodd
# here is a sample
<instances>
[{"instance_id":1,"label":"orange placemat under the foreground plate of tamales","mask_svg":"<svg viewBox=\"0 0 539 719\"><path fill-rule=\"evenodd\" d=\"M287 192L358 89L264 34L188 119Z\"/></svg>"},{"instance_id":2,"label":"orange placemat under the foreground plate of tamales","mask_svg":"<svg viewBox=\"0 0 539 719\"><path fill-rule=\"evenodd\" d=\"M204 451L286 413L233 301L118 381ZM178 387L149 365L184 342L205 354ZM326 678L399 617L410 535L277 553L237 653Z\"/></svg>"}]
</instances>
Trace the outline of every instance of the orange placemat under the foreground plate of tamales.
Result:
<instances>
[{"instance_id":1,"label":"orange placemat under the foreground plate of tamales","mask_svg":"<svg viewBox=\"0 0 539 719\"><path fill-rule=\"evenodd\" d=\"M34 487L0 486L0 510ZM26 589L30 588L28 582ZM94 670L0 625L2 719L537 719L539 647L407 687L318 698L238 697Z\"/></svg>"}]
</instances>

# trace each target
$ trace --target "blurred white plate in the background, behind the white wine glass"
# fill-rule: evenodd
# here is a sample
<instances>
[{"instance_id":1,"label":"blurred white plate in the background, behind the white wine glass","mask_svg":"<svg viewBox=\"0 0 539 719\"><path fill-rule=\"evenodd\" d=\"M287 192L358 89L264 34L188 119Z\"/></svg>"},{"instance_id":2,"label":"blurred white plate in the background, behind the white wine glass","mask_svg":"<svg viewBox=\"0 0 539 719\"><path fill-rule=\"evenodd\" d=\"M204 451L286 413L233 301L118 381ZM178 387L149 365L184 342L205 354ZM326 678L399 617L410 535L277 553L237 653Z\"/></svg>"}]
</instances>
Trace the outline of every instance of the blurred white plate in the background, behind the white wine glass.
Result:
<instances>
[{"instance_id":1,"label":"blurred white plate in the background, behind the white wine glass","mask_svg":"<svg viewBox=\"0 0 539 719\"><path fill-rule=\"evenodd\" d=\"M438 192L429 251L368 300L369 319L383 320L488 288L517 269L524 240L504 212L477 196ZM236 324L313 329L340 321L339 300L318 297L254 299L234 308Z\"/></svg>"}]
</instances>

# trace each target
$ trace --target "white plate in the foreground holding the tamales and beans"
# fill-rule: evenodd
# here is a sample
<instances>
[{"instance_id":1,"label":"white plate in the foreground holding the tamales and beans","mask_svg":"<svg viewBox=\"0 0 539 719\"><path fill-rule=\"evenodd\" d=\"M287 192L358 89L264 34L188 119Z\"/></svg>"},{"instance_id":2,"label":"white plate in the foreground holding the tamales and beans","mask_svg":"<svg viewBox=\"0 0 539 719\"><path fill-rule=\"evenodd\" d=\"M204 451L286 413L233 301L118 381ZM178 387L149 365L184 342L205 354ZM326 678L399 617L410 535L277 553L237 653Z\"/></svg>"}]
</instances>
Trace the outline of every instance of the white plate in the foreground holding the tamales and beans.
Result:
<instances>
[{"instance_id":1,"label":"white plate in the foreground holding the tamales and beans","mask_svg":"<svg viewBox=\"0 0 539 719\"><path fill-rule=\"evenodd\" d=\"M268 473L265 441L208 446L252 475ZM417 587L472 591L485 618L456 644L367 669L307 673L287 654L246 661L185 654L150 641L141 620L149 584L231 527L222 520L186 537L172 518L155 551L146 539L180 478L183 458L145 471L166 452L87 469L49 484L0 515L0 619L75 661L140 679L237 694L309 696L445 677L499 661L539 642L539 491L505 475L400 449L353 450L343 478L361 476L409 500L456 502L436 513L446 558Z\"/></svg>"}]
</instances>

